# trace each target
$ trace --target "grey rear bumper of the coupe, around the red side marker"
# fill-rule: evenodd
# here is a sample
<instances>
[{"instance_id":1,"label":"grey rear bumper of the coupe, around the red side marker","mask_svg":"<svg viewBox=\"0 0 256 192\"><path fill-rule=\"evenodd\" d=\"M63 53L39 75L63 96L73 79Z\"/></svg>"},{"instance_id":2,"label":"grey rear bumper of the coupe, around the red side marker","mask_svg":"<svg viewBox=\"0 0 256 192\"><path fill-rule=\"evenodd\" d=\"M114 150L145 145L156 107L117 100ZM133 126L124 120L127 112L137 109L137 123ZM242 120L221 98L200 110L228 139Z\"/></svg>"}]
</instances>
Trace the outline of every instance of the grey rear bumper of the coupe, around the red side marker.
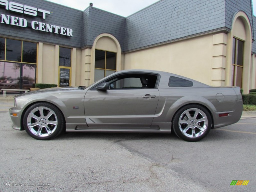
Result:
<instances>
[{"instance_id":1,"label":"grey rear bumper of the coupe, around the red side marker","mask_svg":"<svg viewBox=\"0 0 256 192\"><path fill-rule=\"evenodd\" d=\"M212 129L231 125L238 122L242 116L242 112L243 112L243 101L238 100L236 101L233 111L222 111L222 112L212 113L213 122L214 122ZM226 117L219 117L219 114L221 113L229 113L229 114Z\"/></svg>"}]
</instances>

